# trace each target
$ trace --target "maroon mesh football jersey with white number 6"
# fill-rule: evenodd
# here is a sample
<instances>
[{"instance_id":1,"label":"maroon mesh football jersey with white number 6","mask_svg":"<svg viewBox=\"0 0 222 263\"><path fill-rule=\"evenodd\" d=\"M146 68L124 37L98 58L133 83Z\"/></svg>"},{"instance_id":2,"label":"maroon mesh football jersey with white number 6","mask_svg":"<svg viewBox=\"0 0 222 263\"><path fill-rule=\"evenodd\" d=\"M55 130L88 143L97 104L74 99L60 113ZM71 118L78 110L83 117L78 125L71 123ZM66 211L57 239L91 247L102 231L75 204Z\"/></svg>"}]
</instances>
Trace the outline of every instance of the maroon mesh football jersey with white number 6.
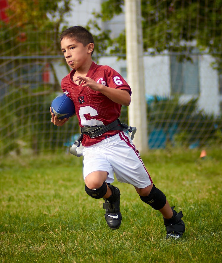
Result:
<instances>
[{"instance_id":1,"label":"maroon mesh football jersey with white number 6","mask_svg":"<svg viewBox=\"0 0 222 263\"><path fill-rule=\"evenodd\" d=\"M75 69L62 79L61 86L63 92L75 104L79 126L102 126L110 124L119 118L122 105L113 102L101 92L94 91L88 86L82 87L82 84L75 84L71 80L74 71ZM125 89L131 95L131 89L123 77L109 66L101 66L92 62L86 77L90 77L94 81L112 89ZM90 138L84 134L82 144L83 146L90 146L118 132L120 131L108 131L95 138Z\"/></svg>"}]
</instances>

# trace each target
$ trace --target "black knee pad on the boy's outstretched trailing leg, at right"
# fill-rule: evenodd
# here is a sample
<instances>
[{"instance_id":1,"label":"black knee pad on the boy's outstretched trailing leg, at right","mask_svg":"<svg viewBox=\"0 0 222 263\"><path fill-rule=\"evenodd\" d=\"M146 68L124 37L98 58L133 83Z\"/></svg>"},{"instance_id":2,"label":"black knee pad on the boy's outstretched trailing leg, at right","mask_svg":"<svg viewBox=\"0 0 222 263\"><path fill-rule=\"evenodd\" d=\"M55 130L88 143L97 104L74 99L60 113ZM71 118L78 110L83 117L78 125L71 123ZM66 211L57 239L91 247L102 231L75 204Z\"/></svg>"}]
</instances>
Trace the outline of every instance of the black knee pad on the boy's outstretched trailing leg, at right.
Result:
<instances>
[{"instance_id":1,"label":"black knee pad on the boy's outstretched trailing leg, at right","mask_svg":"<svg viewBox=\"0 0 222 263\"><path fill-rule=\"evenodd\" d=\"M152 208L155 210L160 210L166 204L165 194L161 192L158 188L156 188L155 185L153 185L149 195L140 195L140 199L148 205L152 206Z\"/></svg>"}]
</instances>

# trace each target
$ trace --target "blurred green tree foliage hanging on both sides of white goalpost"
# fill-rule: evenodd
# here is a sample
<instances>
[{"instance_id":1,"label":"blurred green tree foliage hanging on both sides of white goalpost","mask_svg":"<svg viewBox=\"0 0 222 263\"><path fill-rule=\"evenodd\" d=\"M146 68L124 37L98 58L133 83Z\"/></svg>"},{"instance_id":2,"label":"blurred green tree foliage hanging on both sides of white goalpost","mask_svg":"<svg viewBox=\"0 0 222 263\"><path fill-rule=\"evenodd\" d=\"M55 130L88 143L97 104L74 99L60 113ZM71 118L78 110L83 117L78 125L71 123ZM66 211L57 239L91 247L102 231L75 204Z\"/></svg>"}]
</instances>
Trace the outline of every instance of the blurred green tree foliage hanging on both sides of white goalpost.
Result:
<instances>
[{"instance_id":1,"label":"blurred green tree foliage hanging on both sides of white goalpost","mask_svg":"<svg viewBox=\"0 0 222 263\"><path fill-rule=\"evenodd\" d=\"M123 12L123 0L102 1L95 19L111 20ZM165 50L184 54L189 59L194 46L222 58L222 0L141 1L144 52ZM110 42L111 43L111 42ZM111 53L126 54L125 32L112 39Z\"/></svg>"}]
</instances>

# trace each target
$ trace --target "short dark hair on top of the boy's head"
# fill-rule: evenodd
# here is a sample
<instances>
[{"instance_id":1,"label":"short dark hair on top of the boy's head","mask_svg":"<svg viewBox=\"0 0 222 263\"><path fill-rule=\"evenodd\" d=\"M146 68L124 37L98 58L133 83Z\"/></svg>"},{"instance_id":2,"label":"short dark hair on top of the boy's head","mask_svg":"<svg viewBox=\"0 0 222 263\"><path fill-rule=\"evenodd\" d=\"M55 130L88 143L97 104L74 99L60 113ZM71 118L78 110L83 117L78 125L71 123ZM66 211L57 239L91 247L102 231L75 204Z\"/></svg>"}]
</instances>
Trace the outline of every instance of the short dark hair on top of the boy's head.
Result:
<instances>
[{"instance_id":1,"label":"short dark hair on top of the boy's head","mask_svg":"<svg viewBox=\"0 0 222 263\"><path fill-rule=\"evenodd\" d=\"M80 25L72 26L62 31L60 35L60 42L65 37L70 38L70 39L75 39L76 41L82 43L83 46L86 46L89 43L94 44L93 35L86 28Z\"/></svg>"}]
</instances>

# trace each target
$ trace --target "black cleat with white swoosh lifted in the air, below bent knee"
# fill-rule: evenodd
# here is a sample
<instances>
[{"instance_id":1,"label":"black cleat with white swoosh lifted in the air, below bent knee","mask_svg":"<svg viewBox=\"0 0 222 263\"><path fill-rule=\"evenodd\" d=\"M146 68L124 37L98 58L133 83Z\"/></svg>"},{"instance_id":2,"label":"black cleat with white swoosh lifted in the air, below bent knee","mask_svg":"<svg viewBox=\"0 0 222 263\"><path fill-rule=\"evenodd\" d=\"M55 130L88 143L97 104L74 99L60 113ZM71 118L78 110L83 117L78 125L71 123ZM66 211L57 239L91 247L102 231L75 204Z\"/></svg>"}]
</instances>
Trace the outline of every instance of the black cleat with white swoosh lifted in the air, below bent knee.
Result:
<instances>
[{"instance_id":1,"label":"black cleat with white swoosh lifted in the air, below bent knee","mask_svg":"<svg viewBox=\"0 0 222 263\"><path fill-rule=\"evenodd\" d=\"M120 190L113 185L109 185L109 187L112 195L104 199L103 209L106 209L105 219L108 227L118 229L122 221L122 215L120 213Z\"/></svg>"}]
</instances>

